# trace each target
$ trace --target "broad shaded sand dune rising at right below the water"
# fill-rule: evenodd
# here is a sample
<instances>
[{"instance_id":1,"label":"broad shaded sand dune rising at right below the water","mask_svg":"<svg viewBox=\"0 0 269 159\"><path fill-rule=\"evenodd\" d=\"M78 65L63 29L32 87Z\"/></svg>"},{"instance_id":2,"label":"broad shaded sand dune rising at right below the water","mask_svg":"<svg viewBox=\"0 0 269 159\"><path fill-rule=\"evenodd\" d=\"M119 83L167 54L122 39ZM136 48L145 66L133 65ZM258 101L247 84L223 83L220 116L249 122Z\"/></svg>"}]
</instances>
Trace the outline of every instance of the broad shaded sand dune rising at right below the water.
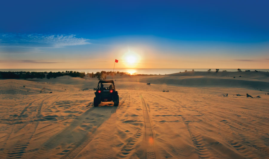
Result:
<instances>
[{"instance_id":1,"label":"broad shaded sand dune rising at right below the water","mask_svg":"<svg viewBox=\"0 0 269 159\"><path fill-rule=\"evenodd\" d=\"M241 77L240 77L241 76ZM235 77L235 78L233 78ZM189 87L236 87L269 91L268 72L181 72L169 75L143 76L120 81L151 82Z\"/></svg>"}]
</instances>

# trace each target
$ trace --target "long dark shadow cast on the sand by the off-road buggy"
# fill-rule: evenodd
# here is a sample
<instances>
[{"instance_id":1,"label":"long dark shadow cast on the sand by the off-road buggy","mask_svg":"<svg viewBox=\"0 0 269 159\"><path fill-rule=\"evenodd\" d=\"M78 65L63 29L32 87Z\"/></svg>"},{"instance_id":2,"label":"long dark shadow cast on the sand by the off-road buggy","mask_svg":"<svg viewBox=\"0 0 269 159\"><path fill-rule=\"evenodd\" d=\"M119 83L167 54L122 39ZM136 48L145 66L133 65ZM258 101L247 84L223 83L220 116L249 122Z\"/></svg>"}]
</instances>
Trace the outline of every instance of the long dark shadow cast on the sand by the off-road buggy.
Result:
<instances>
[{"instance_id":1,"label":"long dark shadow cast on the sand by the off-road buggy","mask_svg":"<svg viewBox=\"0 0 269 159\"><path fill-rule=\"evenodd\" d=\"M92 105L92 103L89 104ZM100 103L98 107L91 106L62 131L43 143L32 158L40 158L41 155L46 154L44 152L50 152L51 149L56 149L58 146L64 150L56 155L64 155L62 158L76 156L94 138L97 128L108 120L116 110L117 107L111 102Z\"/></svg>"}]
</instances>

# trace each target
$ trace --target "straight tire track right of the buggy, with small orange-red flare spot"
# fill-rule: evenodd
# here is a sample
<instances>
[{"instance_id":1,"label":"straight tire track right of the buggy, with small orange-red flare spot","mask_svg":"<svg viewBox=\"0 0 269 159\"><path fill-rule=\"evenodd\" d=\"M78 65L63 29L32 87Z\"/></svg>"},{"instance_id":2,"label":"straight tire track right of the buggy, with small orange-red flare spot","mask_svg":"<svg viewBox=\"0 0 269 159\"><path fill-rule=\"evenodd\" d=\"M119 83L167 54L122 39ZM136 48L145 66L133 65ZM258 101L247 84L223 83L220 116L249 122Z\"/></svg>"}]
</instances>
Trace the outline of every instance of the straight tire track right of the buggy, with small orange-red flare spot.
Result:
<instances>
[{"instance_id":1,"label":"straight tire track right of the buggy, with small orange-red flare spot","mask_svg":"<svg viewBox=\"0 0 269 159\"><path fill-rule=\"evenodd\" d=\"M142 96L142 94L139 94L141 100L142 100L142 105L143 105L143 116L144 116L144 121L145 121L145 133L146 133L146 151L144 153L144 158L147 159L153 159L156 158L156 153L155 153L155 148L154 148L154 138L153 138L153 130L146 106L146 102Z\"/></svg>"}]
</instances>

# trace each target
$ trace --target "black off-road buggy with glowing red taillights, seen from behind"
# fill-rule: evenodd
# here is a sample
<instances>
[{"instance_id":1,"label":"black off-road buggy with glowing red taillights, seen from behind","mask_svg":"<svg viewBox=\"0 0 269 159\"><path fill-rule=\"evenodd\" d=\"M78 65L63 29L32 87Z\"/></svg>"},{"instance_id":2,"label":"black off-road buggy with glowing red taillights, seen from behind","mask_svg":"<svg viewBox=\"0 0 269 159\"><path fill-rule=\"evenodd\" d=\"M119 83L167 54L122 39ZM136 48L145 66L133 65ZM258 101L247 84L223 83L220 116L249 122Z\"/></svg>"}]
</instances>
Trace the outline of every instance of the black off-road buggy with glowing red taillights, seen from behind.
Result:
<instances>
[{"instance_id":1,"label":"black off-road buggy with glowing red taillights, seen from behind","mask_svg":"<svg viewBox=\"0 0 269 159\"><path fill-rule=\"evenodd\" d=\"M94 106L97 107L101 102L114 102L114 106L119 105L119 95L115 89L114 81L100 80L97 85L96 92L94 92Z\"/></svg>"}]
</instances>

